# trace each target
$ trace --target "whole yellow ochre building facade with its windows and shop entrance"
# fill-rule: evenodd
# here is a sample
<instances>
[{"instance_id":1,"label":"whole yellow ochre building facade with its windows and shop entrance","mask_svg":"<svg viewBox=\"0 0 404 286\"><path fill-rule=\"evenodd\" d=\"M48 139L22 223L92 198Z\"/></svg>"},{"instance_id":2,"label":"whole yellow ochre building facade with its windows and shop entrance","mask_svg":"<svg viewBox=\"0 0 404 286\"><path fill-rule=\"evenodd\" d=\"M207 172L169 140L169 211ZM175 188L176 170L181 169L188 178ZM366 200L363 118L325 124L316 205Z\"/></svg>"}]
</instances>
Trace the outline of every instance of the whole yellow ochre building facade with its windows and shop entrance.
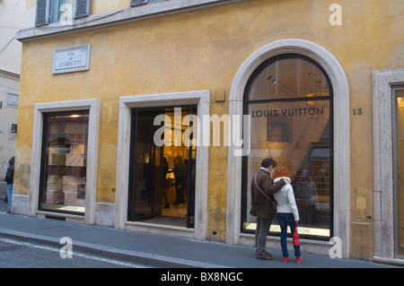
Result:
<instances>
[{"instance_id":1,"label":"whole yellow ochre building facade with its windows and shop entrance","mask_svg":"<svg viewBox=\"0 0 404 286\"><path fill-rule=\"evenodd\" d=\"M27 0L12 212L253 246L250 182L272 157L303 253L402 263L403 13Z\"/></svg>"}]
</instances>

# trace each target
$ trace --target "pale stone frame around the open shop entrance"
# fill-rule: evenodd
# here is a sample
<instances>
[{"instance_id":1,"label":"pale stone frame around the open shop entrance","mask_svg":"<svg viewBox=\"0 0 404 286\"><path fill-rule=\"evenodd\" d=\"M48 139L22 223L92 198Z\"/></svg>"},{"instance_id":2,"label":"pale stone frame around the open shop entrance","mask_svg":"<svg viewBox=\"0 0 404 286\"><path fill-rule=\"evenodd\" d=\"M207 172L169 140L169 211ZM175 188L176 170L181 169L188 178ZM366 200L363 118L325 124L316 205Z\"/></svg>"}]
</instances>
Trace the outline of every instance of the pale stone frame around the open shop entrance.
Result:
<instances>
[{"instance_id":1,"label":"pale stone frame around the open shop entrance","mask_svg":"<svg viewBox=\"0 0 404 286\"><path fill-rule=\"evenodd\" d=\"M206 239L207 228L207 186L209 147L197 147L197 170L195 189L195 227L193 229L152 224L144 221L127 221L127 190L130 161L130 130L132 108L197 105L200 130L204 130L201 118L209 115L210 91L181 91L145 95L122 96L119 98L119 129L117 153L117 186L115 198L115 228L119 230L138 230ZM209 136L209 134L203 134Z\"/></svg>"}]
</instances>

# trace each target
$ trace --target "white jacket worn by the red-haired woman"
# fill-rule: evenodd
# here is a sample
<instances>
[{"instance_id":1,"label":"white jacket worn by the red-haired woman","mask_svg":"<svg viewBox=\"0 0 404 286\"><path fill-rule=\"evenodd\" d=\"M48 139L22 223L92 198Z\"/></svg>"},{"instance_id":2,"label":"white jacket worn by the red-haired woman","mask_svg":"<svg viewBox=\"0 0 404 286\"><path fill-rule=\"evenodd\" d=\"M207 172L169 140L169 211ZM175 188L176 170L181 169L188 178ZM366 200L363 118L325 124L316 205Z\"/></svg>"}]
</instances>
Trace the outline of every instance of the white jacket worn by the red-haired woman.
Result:
<instances>
[{"instance_id":1,"label":"white jacket worn by the red-haired woman","mask_svg":"<svg viewBox=\"0 0 404 286\"><path fill-rule=\"evenodd\" d=\"M291 182L290 178L280 177L274 180L277 183L280 179L287 179ZM294 214L294 221L299 221L299 212L297 211L296 201L294 200L294 188L291 184L286 184L274 194L277 200L277 212L292 212Z\"/></svg>"}]
</instances>

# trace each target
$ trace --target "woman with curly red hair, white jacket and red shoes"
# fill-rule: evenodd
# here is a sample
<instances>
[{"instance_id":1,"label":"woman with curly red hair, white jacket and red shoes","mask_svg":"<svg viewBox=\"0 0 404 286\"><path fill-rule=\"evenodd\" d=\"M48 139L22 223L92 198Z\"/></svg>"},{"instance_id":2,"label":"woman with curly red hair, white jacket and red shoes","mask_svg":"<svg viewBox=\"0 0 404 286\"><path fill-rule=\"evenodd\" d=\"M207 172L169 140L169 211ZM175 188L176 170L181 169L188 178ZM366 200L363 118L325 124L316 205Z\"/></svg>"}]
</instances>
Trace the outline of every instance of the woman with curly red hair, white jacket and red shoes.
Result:
<instances>
[{"instance_id":1,"label":"woman with curly red hair, white jacket and red shoes","mask_svg":"<svg viewBox=\"0 0 404 286\"><path fill-rule=\"evenodd\" d=\"M281 179L291 181L289 171L284 167L277 167L277 169L274 170L273 178L274 183L277 183L277 181ZM281 228L281 247L282 255L284 256L282 262L287 263L289 261L289 253L287 252L286 244L287 226L289 225L293 237L294 228L297 225L297 221L299 221L299 212L297 211L296 202L294 200L294 189L292 185L286 184L279 192L274 194L274 197L277 200L277 220ZM297 263L303 261L300 253L300 245L294 245L294 256L296 257Z\"/></svg>"}]
</instances>

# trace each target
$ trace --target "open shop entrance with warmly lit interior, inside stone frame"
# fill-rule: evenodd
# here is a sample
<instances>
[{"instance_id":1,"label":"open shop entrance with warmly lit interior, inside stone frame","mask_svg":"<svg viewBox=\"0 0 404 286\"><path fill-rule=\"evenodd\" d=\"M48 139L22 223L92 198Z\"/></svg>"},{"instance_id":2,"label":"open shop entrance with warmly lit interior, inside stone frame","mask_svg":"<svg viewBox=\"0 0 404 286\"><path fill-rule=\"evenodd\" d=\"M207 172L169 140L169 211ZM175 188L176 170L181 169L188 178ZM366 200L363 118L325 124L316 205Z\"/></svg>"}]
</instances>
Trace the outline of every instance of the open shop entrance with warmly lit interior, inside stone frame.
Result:
<instances>
[{"instance_id":1,"label":"open shop entrance with warmly lit interior, inside stone frame","mask_svg":"<svg viewBox=\"0 0 404 286\"><path fill-rule=\"evenodd\" d=\"M133 108L128 221L193 228L197 107Z\"/></svg>"}]
</instances>

